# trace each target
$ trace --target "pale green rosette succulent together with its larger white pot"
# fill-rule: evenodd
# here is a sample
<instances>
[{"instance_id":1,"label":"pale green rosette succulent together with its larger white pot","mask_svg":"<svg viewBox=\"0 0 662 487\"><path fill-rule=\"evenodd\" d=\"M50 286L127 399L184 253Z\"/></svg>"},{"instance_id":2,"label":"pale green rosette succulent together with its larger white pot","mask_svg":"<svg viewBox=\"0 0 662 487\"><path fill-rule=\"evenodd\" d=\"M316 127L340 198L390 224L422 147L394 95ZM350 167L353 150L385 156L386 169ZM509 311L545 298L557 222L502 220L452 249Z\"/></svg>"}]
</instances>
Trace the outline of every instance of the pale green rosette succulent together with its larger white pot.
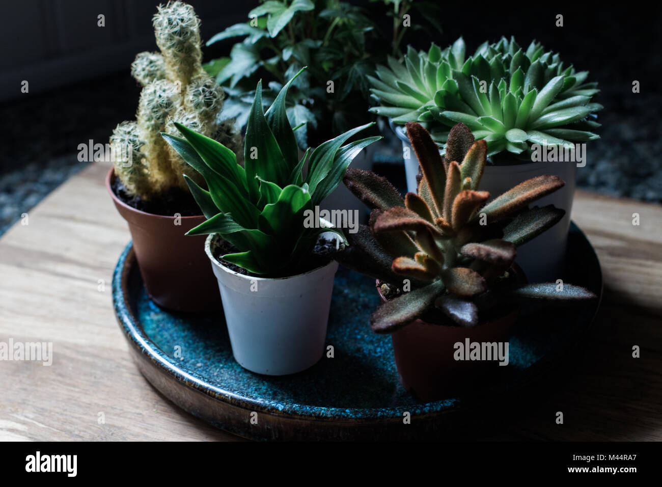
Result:
<instances>
[{"instance_id":1,"label":"pale green rosette succulent together with its larger white pot","mask_svg":"<svg viewBox=\"0 0 662 487\"><path fill-rule=\"evenodd\" d=\"M459 38L444 50L434 43L428 52L410 48L402 63L390 58L388 68L377 68L379 79L369 78L380 105L371 111L391 118L408 150L402 131L408 121L427 127L442 154L449 128L467 125L475 138L487 142L484 188L492 194L543 174L563 179L566 186L541 204L564 209L565 217L518 256L531 277L551 278L565 256L577 164L559 164L558 156L548 160L547 153L598 138L592 132L599 127L594 113L602 109L592 103L597 83L587 82L588 72L564 66L559 54L545 52L535 41L526 50L514 38L484 42L473 56L465 56L465 50ZM416 191L418 164L412 156L405 158L405 169L407 188Z\"/></svg>"}]
</instances>

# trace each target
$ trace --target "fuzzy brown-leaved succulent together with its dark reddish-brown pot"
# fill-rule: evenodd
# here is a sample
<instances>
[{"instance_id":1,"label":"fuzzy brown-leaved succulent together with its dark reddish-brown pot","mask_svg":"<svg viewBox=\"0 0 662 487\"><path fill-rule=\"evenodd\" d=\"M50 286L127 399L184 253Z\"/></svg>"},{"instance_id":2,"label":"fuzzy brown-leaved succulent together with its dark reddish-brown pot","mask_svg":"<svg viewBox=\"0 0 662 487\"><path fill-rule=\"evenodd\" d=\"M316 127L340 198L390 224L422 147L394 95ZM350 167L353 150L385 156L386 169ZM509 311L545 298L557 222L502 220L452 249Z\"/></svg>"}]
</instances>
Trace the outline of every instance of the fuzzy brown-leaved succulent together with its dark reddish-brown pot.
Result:
<instances>
[{"instance_id":1,"label":"fuzzy brown-leaved succulent together with its dark reddish-brown pot","mask_svg":"<svg viewBox=\"0 0 662 487\"><path fill-rule=\"evenodd\" d=\"M563 217L551 205L527 208L561 188L561 179L538 176L488 203L490 194L479 190L485 140L457 124L442 157L422 125L407 123L406 132L422 171L418 191L403 199L384 178L350 168L346 185L372 211L369 227L349 235L336 260L377 278L383 304L372 329L392 334L402 384L427 402L483 372L486 362L455 360L454 344L507 341L517 301L595 296L571 284L527 284L514 264L517 246Z\"/></svg>"}]
</instances>

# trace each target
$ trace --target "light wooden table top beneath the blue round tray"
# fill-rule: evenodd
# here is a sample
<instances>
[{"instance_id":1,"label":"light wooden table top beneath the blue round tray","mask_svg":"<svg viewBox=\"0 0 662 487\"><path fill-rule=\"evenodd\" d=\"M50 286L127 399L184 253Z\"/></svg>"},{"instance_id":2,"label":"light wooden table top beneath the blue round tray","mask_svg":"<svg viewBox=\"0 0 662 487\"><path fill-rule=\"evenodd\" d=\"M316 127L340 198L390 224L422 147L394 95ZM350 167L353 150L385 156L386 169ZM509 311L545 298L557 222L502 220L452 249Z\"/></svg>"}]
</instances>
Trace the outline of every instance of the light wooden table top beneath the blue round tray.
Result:
<instances>
[{"instance_id":1,"label":"light wooden table top beneath the blue round tray","mask_svg":"<svg viewBox=\"0 0 662 487\"><path fill-rule=\"evenodd\" d=\"M130 235L103 186L107 168L91 164L0 239L0 342L52 342L54 355L51 366L0 361L0 440L238 439L171 404L130 358L111 299ZM485 439L661 441L662 207L577 191L572 218L604 274L584 360Z\"/></svg>"}]
</instances>

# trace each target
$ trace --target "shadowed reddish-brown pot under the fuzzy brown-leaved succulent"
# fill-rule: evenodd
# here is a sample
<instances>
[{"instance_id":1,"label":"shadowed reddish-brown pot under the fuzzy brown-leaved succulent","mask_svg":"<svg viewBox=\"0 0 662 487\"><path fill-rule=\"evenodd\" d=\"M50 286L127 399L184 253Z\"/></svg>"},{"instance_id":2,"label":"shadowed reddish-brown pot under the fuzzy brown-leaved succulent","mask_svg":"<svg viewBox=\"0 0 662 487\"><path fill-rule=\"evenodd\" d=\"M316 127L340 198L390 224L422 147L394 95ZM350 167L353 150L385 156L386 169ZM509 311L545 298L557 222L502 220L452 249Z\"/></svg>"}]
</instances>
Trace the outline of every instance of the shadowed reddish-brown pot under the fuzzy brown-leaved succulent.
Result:
<instances>
[{"instance_id":1,"label":"shadowed reddish-brown pot under the fuzzy brown-leaved succulent","mask_svg":"<svg viewBox=\"0 0 662 487\"><path fill-rule=\"evenodd\" d=\"M514 268L519 282L526 282L520 268ZM381 289L377 292L386 301ZM519 308L473 328L428 323L416 319L391 334L395 364L402 386L422 402L454 397L472 386L504 372L498 360L455 360L456 343L506 343L519 316Z\"/></svg>"}]
</instances>

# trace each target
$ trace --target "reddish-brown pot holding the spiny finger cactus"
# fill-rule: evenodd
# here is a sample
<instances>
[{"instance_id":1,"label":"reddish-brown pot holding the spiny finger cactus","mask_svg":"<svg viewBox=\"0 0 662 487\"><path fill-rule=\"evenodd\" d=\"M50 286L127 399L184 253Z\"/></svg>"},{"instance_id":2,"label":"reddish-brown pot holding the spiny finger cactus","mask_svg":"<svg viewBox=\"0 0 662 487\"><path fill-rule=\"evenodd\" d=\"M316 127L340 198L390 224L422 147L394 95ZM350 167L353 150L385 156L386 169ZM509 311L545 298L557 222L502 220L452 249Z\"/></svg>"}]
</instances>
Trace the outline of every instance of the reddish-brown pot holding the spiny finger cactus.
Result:
<instances>
[{"instance_id":1,"label":"reddish-brown pot holding the spiny finger cactus","mask_svg":"<svg viewBox=\"0 0 662 487\"><path fill-rule=\"evenodd\" d=\"M175 225L175 217L130 207L113 193L114 178L111 168L106 189L128 223L140 275L150 298L175 311L220 309L216 278L205 254L206 235L184 235L203 223L205 217L181 217L181 225Z\"/></svg>"}]
</instances>

